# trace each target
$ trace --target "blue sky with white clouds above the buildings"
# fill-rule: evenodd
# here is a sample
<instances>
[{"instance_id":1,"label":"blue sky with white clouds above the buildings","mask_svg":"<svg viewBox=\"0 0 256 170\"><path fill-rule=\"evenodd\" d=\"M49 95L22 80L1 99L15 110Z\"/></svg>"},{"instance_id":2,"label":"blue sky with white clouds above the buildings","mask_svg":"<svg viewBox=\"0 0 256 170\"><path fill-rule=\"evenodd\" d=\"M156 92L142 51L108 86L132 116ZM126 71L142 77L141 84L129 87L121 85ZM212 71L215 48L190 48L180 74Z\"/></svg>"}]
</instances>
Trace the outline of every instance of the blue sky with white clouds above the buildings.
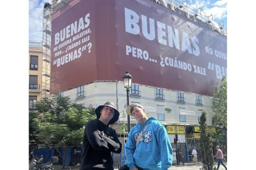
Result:
<instances>
[{"instance_id":1,"label":"blue sky with white clouds above the buildings","mask_svg":"<svg viewBox=\"0 0 256 170\"><path fill-rule=\"evenodd\" d=\"M184 2L176 0L177 2ZM29 0L29 41L41 42L43 38L43 5L49 0ZM61 2L61 1L59 1ZM227 0L187 0L191 9L201 9L207 16L227 30ZM202 13L203 13L202 12Z\"/></svg>"}]
</instances>

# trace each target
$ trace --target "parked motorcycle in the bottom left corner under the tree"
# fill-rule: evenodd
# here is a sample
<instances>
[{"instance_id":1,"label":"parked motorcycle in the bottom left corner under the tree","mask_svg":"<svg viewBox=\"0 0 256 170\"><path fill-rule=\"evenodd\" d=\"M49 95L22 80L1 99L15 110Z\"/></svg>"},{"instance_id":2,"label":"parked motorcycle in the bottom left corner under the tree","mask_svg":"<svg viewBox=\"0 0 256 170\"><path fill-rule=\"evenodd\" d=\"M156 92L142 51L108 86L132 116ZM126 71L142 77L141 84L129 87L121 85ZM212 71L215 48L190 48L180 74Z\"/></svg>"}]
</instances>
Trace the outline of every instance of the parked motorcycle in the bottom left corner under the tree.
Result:
<instances>
[{"instance_id":1,"label":"parked motorcycle in the bottom left corner under the tree","mask_svg":"<svg viewBox=\"0 0 256 170\"><path fill-rule=\"evenodd\" d=\"M36 161L35 157L31 154L31 160L29 161L29 170L54 170L53 163L41 163Z\"/></svg>"}]
</instances>

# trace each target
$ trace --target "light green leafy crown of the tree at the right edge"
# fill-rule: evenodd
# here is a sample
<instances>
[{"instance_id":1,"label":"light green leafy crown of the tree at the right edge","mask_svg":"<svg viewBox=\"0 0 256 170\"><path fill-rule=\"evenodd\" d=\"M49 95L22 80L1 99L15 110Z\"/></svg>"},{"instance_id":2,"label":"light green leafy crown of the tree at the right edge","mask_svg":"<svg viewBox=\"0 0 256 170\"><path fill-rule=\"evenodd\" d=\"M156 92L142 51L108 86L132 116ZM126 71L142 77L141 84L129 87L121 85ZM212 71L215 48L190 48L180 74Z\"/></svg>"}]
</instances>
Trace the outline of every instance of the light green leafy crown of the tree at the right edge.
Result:
<instances>
[{"instance_id":1,"label":"light green leafy crown of the tree at the right edge","mask_svg":"<svg viewBox=\"0 0 256 170\"><path fill-rule=\"evenodd\" d=\"M225 76L221 79L220 86L215 88L211 110L213 125L218 126L222 123L227 126L227 79Z\"/></svg>"}]
</instances>

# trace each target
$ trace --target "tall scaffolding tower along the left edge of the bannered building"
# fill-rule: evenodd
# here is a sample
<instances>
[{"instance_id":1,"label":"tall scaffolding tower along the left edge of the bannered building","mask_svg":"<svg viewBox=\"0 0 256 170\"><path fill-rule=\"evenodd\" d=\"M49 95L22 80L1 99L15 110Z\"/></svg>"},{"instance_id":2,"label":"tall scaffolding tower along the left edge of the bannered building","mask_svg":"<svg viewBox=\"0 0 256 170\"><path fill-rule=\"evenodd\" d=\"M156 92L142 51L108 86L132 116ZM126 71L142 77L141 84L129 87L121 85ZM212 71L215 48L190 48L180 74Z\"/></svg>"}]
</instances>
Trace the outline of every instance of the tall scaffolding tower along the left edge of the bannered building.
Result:
<instances>
[{"instance_id":1,"label":"tall scaffolding tower along the left edge of the bannered building","mask_svg":"<svg viewBox=\"0 0 256 170\"><path fill-rule=\"evenodd\" d=\"M49 2L45 2L43 7L43 42L42 42L42 95L49 97L49 87L51 78L51 18L53 9Z\"/></svg>"}]
</instances>

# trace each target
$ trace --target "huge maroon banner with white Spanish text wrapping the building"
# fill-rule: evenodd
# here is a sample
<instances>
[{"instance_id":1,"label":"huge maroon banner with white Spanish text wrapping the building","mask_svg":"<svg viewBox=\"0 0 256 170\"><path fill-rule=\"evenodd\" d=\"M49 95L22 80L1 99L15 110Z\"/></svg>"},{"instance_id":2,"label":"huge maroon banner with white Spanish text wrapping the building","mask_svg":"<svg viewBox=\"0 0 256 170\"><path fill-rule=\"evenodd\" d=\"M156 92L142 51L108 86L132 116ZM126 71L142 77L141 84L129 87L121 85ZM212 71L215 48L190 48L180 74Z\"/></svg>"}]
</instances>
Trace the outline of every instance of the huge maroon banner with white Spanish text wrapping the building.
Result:
<instances>
[{"instance_id":1,"label":"huge maroon banner with white Spanish text wrapping the building","mask_svg":"<svg viewBox=\"0 0 256 170\"><path fill-rule=\"evenodd\" d=\"M53 15L51 94L96 80L212 95L226 36L147 0L69 1Z\"/></svg>"}]
</instances>

